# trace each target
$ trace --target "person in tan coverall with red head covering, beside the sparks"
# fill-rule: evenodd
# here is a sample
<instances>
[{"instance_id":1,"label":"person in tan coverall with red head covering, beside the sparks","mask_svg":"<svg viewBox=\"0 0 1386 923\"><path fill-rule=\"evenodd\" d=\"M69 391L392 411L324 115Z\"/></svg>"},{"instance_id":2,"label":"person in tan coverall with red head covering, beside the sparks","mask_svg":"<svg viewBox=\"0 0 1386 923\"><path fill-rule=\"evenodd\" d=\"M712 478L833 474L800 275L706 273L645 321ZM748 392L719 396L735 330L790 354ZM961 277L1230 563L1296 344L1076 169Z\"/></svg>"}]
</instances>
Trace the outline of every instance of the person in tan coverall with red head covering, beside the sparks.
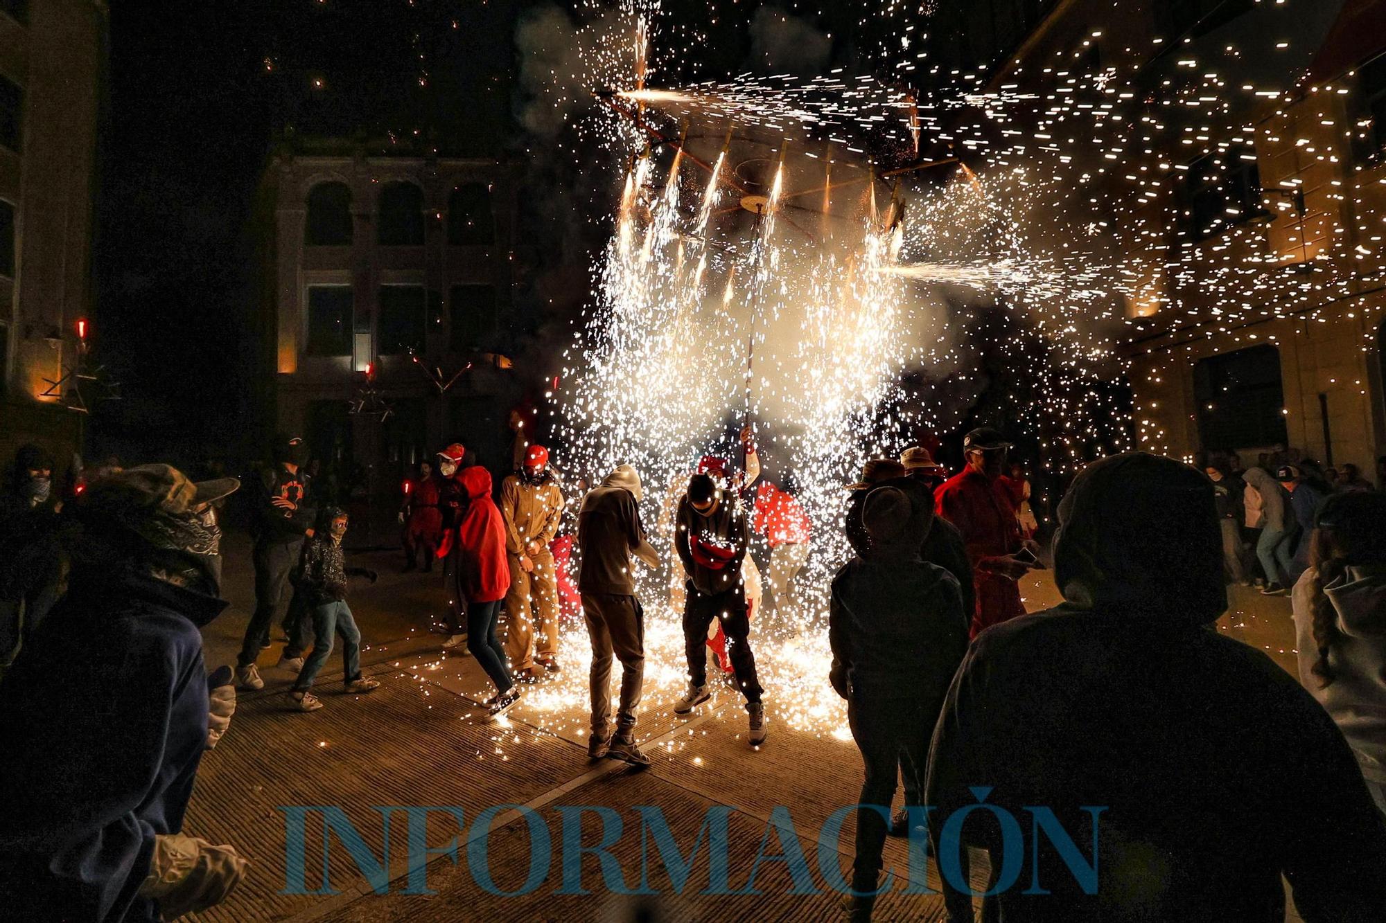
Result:
<instances>
[{"instance_id":1,"label":"person in tan coverall with red head covering, beside the sparks","mask_svg":"<svg viewBox=\"0 0 1386 923\"><path fill-rule=\"evenodd\" d=\"M506 656L518 682L538 682L560 671L559 575L550 545L563 521L563 489L545 446L528 446L523 464L500 482L500 514L510 567Z\"/></svg>"}]
</instances>

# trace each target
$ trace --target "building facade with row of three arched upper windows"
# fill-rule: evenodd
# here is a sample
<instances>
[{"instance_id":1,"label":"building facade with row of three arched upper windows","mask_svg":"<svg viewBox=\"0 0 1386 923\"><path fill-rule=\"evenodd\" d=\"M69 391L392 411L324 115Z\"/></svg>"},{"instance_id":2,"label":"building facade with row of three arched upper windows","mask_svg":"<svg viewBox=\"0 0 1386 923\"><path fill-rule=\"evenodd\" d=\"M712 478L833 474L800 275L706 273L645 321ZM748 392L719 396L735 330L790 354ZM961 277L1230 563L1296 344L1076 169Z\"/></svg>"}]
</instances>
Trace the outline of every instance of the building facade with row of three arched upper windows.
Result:
<instances>
[{"instance_id":1,"label":"building facade with row of three arched upper windows","mask_svg":"<svg viewBox=\"0 0 1386 923\"><path fill-rule=\"evenodd\" d=\"M507 467L517 172L317 147L280 152L262 187L262 439L304 435L356 496L455 441Z\"/></svg>"}]
</instances>

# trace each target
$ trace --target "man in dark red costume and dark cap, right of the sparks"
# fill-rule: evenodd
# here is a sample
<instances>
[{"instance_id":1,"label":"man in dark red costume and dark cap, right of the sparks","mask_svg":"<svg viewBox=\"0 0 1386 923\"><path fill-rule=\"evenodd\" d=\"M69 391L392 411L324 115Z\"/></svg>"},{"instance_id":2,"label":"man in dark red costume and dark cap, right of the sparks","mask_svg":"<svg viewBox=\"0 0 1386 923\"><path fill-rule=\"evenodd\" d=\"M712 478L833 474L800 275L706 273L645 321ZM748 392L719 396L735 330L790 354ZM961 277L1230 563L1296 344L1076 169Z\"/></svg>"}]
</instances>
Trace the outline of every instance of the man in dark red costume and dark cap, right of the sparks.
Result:
<instances>
[{"instance_id":1,"label":"man in dark red costume and dark cap, right of the sparks","mask_svg":"<svg viewBox=\"0 0 1386 923\"><path fill-rule=\"evenodd\" d=\"M972 638L992 625L1026 614L1019 581L1038 561L1034 542L1020 538L1015 491L1005 477L1010 443L990 428L973 430L962 441L967 467L936 492L938 516L962 532L977 583ZM1017 557L1019 556L1019 557Z\"/></svg>"}]
</instances>

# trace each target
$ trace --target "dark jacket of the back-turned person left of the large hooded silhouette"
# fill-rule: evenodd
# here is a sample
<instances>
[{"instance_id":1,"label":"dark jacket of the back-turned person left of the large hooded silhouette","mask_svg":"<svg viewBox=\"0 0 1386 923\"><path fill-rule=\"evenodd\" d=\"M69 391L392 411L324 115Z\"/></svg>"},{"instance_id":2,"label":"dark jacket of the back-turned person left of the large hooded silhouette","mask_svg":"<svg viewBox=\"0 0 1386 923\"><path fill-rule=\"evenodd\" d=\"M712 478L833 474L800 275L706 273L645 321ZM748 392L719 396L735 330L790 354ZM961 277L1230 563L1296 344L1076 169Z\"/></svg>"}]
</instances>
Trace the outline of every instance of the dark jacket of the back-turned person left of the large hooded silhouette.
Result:
<instances>
[{"instance_id":1,"label":"dark jacket of the back-turned person left of the large hooded silhouette","mask_svg":"<svg viewBox=\"0 0 1386 923\"><path fill-rule=\"evenodd\" d=\"M969 618L954 575L919 557L937 525L931 492L905 496L895 540L873 542L833 578L827 636L850 697L927 700L934 714L967 650Z\"/></svg>"}]
</instances>

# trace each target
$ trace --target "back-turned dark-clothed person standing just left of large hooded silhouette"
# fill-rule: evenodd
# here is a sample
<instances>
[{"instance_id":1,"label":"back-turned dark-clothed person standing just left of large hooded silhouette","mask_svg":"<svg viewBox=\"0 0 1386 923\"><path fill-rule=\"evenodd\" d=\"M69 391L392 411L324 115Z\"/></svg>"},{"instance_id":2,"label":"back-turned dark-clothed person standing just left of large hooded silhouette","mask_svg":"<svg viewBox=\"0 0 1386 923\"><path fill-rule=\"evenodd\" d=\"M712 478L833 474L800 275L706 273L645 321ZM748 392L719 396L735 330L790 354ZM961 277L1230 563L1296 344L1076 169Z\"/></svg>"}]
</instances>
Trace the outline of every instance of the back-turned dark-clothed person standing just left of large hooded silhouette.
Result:
<instances>
[{"instance_id":1,"label":"back-turned dark-clothed person standing just left of large hooded silhouette","mask_svg":"<svg viewBox=\"0 0 1386 923\"><path fill-rule=\"evenodd\" d=\"M906 805L919 808L929 739L967 650L970 619L952 574L919 556L937 525L927 486L905 481L873 488L862 503L862 524L870 545L833 578L827 638L830 679L847 698L866 775L857 811L855 894L844 906L852 919L869 920L897 766L916 797L906 797Z\"/></svg>"}]
</instances>

